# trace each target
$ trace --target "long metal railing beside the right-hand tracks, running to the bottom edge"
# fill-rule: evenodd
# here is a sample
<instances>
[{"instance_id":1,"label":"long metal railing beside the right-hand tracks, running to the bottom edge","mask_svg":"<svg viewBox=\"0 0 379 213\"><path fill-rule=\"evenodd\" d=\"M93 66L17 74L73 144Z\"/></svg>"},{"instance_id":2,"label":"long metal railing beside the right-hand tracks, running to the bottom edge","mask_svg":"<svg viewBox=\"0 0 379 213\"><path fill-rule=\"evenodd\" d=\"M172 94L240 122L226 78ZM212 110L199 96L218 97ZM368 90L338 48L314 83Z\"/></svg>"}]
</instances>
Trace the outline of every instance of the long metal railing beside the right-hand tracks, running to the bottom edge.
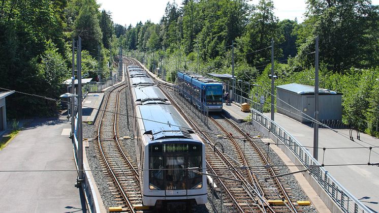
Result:
<instances>
[{"instance_id":1,"label":"long metal railing beside the right-hand tracks, running to the bottom edge","mask_svg":"<svg viewBox=\"0 0 379 213\"><path fill-rule=\"evenodd\" d=\"M307 149L297 141L289 132L280 127L270 118L255 109L251 110L251 118L274 134L284 143L298 160L309 169L310 174L319 186L329 195L343 212L372 212L363 205L354 195L342 187L339 182L328 173L320 163L315 160Z\"/></svg>"}]
</instances>

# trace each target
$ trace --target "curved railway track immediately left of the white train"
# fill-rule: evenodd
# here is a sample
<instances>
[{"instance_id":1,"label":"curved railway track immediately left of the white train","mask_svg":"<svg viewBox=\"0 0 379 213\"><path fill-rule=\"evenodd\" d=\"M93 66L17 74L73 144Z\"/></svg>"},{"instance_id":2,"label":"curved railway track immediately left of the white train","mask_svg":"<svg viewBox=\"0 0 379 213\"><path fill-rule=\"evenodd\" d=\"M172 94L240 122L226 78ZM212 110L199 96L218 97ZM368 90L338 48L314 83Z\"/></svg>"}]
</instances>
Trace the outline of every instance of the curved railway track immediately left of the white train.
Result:
<instances>
[{"instance_id":1,"label":"curved railway track immediately left of the white train","mask_svg":"<svg viewBox=\"0 0 379 213\"><path fill-rule=\"evenodd\" d=\"M109 175L109 182L113 182L115 186L111 191L117 204L121 205L125 212L135 212L135 207L142 205L138 172L135 170L137 167L120 143L117 130L118 100L124 88L122 85L113 88L104 100L98 128L98 147L106 173ZM113 125L107 125L107 120L112 120Z\"/></svg>"}]
</instances>

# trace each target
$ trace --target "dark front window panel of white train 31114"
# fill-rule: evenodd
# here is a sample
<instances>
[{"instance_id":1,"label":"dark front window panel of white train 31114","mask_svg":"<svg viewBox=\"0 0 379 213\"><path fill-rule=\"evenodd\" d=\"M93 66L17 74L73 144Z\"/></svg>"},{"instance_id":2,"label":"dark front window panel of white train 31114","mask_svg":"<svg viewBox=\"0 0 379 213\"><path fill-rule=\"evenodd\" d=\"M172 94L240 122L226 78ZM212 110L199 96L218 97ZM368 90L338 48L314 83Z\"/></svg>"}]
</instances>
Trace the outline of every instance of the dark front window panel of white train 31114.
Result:
<instances>
[{"instance_id":1,"label":"dark front window panel of white train 31114","mask_svg":"<svg viewBox=\"0 0 379 213\"><path fill-rule=\"evenodd\" d=\"M149 189L189 190L202 188L202 175L187 168L202 166L200 144L151 144Z\"/></svg>"}]
</instances>

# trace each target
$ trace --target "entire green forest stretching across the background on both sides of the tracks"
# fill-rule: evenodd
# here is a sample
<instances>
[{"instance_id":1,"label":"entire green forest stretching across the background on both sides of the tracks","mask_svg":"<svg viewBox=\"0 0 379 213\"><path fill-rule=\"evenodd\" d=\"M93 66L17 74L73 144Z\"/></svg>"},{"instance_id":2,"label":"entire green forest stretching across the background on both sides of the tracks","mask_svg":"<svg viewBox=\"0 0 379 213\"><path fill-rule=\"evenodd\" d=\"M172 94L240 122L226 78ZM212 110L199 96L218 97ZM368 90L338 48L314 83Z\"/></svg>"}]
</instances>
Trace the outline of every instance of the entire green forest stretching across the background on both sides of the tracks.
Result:
<instances>
[{"instance_id":1,"label":"entire green forest stretching across the background on both sides of the tracks","mask_svg":"<svg viewBox=\"0 0 379 213\"><path fill-rule=\"evenodd\" d=\"M320 87L343 93L343 122L378 136L379 7L368 0L307 0L305 19L280 20L271 0L184 0L167 3L159 23L114 24L95 0L3 0L0 3L0 87L57 98L71 75L72 39L82 38L84 77L109 75L111 55L143 60L167 72L234 72L269 98L271 40L275 85L314 85L315 37ZM247 88L243 88L248 92ZM253 89L251 89L252 91ZM247 95L246 95L247 97ZM269 101L268 101L269 102ZM55 102L14 94L10 118L56 113ZM269 110L269 104L265 110Z\"/></svg>"}]
</instances>

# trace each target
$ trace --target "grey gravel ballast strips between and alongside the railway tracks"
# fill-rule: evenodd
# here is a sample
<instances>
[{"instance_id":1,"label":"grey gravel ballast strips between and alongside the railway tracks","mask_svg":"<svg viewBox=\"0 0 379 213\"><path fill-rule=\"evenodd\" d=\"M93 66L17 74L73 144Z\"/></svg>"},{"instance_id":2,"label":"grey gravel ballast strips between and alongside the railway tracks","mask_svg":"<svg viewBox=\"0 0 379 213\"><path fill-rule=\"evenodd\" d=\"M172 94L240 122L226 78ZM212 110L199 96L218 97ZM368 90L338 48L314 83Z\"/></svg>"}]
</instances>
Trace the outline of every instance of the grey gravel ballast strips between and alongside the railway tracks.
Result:
<instances>
[{"instance_id":1,"label":"grey gravel ballast strips between and alongside the railway tracks","mask_svg":"<svg viewBox=\"0 0 379 213\"><path fill-rule=\"evenodd\" d=\"M125 95L126 95L126 97L125 97ZM129 88L127 87L126 94L125 94L125 92L122 92L120 94L119 117L118 117L118 124L117 125L118 125L119 137L123 138L124 136L128 136L128 137L126 137L126 139L123 138L121 141L122 141L123 145L125 146L125 148L128 150L129 155L133 157L132 159L134 161L136 161L136 159L135 159L136 154L135 154L135 147L134 147L134 140L133 140L133 128L132 128L133 118L131 116L132 115L132 106L131 106L131 103L129 101L130 100L129 96L130 96ZM125 98L128 101L126 101ZM128 104L128 107L127 107L126 103ZM103 104L104 104L104 102L103 102ZM216 134L217 135L223 135L223 133L220 132L215 127L215 125L211 124L210 120L208 121L209 122L208 125L205 125L203 123L203 121L197 116L198 113L194 113L193 109L190 110L190 108L185 106L185 105L188 105L187 103L185 103L183 101L178 101L178 104L181 107L183 107L186 114L196 124L198 124L203 130L206 130L208 132L212 132L215 135ZM129 114L129 118L130 118L129 119L129 128L128 128L127 112ZM89 140L89 147L86 148L88 163L89 163L89 166L92 170L92 174L93 174L93 177L96 181L96 184L99 188L99 192L100 192L101 197L103 199L104 205L108 209L108 207L110 207L110 206L117 206L117 203L115 202L115 197L112 195L111 191L109 190L109 187L113 187L113 186L109 186L109 184L108 184L109 179L107 178L105 173L103 171L101 171L103 168L101 167L100 162L99 162L100 156L98 155L97 144L96 144L97 141L91 140L91 139L96 138L96 136L97 136L97 127L98 127L98 123L99 123L99 119L100 119L100 113L101 113L101 111L99 111L99 116L97 118L97 121L94 123L94 125L87 125L87 124L83 123L83 138L90 139ZM113 125L112 121L109 121L109 125ZM245 133L248 133L249 135L254 135L254 136L261 135L261 136L265 137L261 132L259 132L250 123L242 123L242 124L237 124L237 125L242 130L244 130ZM130 139L128 139L128 138L130 138ZM225 152L227 153L227 155L229 155L231 158L237 159L237 155L234 152L233 147L228 143L228 141L226 139L219 139L217 141L224 145ZM263 142L258 143L258 145L262 147L265 155L267 155L267 145L264 144ZM279 174L290 172L286 166L283 166L285 164L282 162L280 157L278 157L276 155L276 153L271 148L269 148L268 156L269 156L269 159L271 160L271 162L274 162L274 165L279 165L277 167ZM297 181L293 175L286 175L286 176L283 176L281 179L282 179L283 184L285 186L288 185L292 189L292 195L291 195L292 200L309 200L308 197L306 196L306 194L302 191L301 187L299 186L299 184L297 183ZM234 211L234 209L231 207L226 207L225 205L221 206L220 196L221 196L221 194L219 191L215 191L214 194L212 195L211 188L208 187L208 200L211 200L212 197L214 198L213 199L214 200L214 208L216 209L216 211L220 211L221 207L223 207L224 212ZM225 203L225 200L223 202ZM308 207L304 207L301 209L303 212L317 212L317 210L315 210L313 206L308 206ZM194 212L214 212L213 207L212 207L210 202L208 202L205 205L195 206L193 208L193 211Z\"/></svg>"}]
</instances>

